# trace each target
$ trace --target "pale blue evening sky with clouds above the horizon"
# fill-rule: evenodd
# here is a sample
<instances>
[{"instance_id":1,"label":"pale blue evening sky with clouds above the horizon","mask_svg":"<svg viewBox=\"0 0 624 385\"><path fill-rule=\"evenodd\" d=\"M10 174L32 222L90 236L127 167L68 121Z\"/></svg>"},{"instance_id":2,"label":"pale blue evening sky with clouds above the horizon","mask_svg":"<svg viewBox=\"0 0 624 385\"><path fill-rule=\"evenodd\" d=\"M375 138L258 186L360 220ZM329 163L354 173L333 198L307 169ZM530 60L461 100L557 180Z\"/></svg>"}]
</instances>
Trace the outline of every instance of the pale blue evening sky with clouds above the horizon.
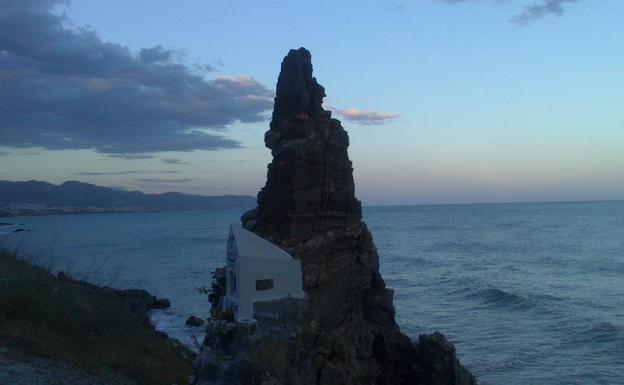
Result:
<instances>
[{"instance_id":1,"label":"pale blue evening sky with clouds above the horizon","mask_svg":"<svg viewBox=\"0 0 624 385\"><path fill-rule=\"evenodd\" d=\"M624 199L620 0L0 0L0 180L256 195L312 53L366 205Z\"/></svg>"}]
</instances>

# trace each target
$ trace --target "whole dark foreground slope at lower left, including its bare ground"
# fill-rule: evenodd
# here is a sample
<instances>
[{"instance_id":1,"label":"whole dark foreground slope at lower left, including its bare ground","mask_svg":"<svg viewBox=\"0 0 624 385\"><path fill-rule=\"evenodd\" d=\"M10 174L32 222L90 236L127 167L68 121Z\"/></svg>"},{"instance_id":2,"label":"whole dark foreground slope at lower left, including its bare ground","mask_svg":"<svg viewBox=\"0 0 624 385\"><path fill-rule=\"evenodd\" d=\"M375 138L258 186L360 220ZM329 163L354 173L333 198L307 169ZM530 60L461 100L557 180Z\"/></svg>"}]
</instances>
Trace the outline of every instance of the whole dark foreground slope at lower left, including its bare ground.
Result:
<instances>
[{"instance_id":1,"label":"whole dark foreground slope at lower left, including its bare ground","mask_svg":"<svg viewBox=\"0 0 624 385\"><path fill-rule=\"evenodd\" d=\"M168 306L0 248L0 384L187 384L196 355L148 316Z\"/></svg>"}]
</instances>

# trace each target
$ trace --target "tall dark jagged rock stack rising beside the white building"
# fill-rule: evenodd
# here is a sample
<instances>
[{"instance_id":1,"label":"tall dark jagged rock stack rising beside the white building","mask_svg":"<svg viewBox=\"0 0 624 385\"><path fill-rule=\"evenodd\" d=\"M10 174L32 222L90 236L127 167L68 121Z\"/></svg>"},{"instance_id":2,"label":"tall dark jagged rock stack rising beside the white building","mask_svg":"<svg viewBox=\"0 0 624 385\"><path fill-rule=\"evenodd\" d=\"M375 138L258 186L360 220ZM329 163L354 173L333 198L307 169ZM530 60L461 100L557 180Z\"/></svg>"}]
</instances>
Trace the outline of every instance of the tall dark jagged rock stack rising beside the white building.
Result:
<instances>
[{"instance_id":1,"label":"tall dark jagged rock stack rising beside the white building","mask_svg":"<svg viewBox=\"0 0 624 385\"><path fill-rule=\"evenodd\" d=\"M443 335L413 342L399 331L355 198L349 137L323 109L324 96L310 53L291 50L265 135L273 155L266 186L242 221L301 261L308 304L285 348L289 369L256 354L252 371L270 372L275 384L474 384Z\"/></svg>"}]
</instances>

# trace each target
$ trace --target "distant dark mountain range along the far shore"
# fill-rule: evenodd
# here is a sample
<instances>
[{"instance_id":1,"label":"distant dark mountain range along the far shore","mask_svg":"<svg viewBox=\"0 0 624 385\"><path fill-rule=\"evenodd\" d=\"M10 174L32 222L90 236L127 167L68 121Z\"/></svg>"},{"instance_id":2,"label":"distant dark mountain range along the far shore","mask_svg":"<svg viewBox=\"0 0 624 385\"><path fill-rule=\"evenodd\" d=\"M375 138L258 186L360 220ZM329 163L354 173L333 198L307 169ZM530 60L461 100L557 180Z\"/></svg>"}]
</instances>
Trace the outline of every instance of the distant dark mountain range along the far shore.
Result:
<instances>
[{"instance_id":1,"label":"distant dark mountain range along the far shore","mask_svg":"<svg viewBox=\"0 0 624 385\"><path fill-rule=\"evenodd\" d=\"M68 181L58 186L40 181L0 181L0 208L12 215L248 209L255 207L255 204L256 199L246 195L204 196L177 192L145 194L140 191L121 191L77 181ZM51 209L53 212L50 212Z\"/></svg>"}]
</instances>

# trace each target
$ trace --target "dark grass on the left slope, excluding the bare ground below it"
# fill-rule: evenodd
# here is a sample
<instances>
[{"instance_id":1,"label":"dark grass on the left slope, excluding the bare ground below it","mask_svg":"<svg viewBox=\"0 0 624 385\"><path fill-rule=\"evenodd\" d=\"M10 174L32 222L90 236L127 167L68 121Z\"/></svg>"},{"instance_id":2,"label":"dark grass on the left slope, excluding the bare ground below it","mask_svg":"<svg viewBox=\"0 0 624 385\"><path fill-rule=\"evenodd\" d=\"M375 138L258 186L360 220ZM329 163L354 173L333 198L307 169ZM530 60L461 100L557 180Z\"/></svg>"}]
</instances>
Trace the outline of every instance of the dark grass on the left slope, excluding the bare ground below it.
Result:
<instances>
[{"instance_id":1,"label":"dark grass on the left slope, excluding the bare ground below it","mask_svg":"<svg viewBox=\"0 0 624 385\"><path fill-rule=\"evenodd\" d=\"M0 250L0 345L137 384L187 384L191 364L158 336L145 309L95 286L59 279Z\"/></svg>"}]
</instances>

